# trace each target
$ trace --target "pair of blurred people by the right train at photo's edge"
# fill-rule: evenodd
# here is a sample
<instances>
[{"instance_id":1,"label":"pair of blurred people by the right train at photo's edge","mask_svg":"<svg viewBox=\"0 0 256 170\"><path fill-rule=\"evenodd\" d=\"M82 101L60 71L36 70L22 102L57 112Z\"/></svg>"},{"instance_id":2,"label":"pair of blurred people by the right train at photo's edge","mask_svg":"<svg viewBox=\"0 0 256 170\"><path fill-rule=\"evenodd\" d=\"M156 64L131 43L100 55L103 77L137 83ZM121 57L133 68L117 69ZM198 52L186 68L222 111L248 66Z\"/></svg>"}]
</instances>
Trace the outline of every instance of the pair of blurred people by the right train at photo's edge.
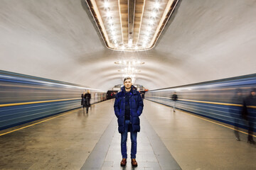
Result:
<instances>
[{"instance_id":1,"label":"pair of blurred people by the right train at photo's edge","mask_svg":"<svg viewBox=\"0 0 256 170\"><path fill-rule=\"evenodd\" d=\"M256 89L251 89L250 94L245 98L242 96L242 89L236 89L235 95L232 98L232 103L238 104L236 109L230 106L230 115L234 119L235 125L235 138L240 141L239 135L239 121L245 121L245 125L248 128L247 142L255 145L255 140L253 140L253 128L255 122L255 107L256 107ZM242 106L242 107L241 107Z\"/></svg>"}]
</instances>

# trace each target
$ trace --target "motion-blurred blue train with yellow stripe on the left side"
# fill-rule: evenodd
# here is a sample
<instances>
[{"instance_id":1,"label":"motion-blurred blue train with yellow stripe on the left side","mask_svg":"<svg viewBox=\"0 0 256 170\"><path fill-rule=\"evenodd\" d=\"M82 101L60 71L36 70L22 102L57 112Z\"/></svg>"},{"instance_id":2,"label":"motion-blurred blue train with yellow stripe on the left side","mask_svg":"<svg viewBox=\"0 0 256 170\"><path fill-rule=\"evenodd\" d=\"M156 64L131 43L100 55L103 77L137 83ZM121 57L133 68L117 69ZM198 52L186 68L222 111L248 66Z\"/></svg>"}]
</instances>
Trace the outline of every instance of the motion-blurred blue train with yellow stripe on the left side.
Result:
<instances>
[{"instance_id":1,"label":"motion-blurred blue train with yellow stripe on the left side","mask_svg":"<svg viewBox=\"0 0 256 170\"><path fill-rule=\"evenodd\" d=\"M90 89L4 71L0 71L0 87L0 129L79 108L81 94ZM90 103L106 100L106 93L90 91Z\"/></svg>"}]
</instances>

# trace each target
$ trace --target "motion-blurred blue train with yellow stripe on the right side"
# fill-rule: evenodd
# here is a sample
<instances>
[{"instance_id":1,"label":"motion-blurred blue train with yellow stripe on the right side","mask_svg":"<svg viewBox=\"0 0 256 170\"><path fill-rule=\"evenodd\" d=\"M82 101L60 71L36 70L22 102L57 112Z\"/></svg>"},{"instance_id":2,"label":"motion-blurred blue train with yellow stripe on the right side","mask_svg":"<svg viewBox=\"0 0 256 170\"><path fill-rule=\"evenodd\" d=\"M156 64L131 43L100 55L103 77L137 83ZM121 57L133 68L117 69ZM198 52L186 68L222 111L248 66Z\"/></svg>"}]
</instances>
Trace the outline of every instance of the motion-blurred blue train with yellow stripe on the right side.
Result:
<instances>
[{"instance_id":1,"label":"motion-blurred blue train with yellow stripe on the right side","mask_svg":"<svg viewBox=\"0 0 256 170\"><path fill-rule=\"evenodd\" d=\"M145 98L167 106L174 106L171 96L176 91L176 108L218 120L240 128L247 128L247 121L242 116L242 101L236 98L238 91L242 98L250 95L256 88L256 74L217 81L207 81L186 86L148 91ZM247 106L249 118L256 123L256 106ZM164 113L168 114L168 113ZM254 129L255 131L255 126Z\"/></svg>"}]
</instances>

